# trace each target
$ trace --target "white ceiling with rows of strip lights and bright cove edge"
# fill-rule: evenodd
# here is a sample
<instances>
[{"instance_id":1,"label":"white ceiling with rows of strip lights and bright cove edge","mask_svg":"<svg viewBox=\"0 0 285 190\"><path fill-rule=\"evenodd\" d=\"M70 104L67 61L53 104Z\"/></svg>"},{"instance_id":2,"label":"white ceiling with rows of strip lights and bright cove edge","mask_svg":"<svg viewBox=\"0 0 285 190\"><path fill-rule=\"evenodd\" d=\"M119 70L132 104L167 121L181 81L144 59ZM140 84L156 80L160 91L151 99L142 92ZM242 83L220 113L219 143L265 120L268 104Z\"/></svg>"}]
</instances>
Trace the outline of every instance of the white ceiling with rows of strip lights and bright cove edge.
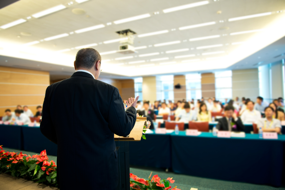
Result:
<instances>
[{"instance_id":1,"label":"white ceiling with rows of strip lights and bright cove edge","mask_svg":"<svg viewBox=\"0 0 285 190\"><path fill-rule=\"evenodd\" d=\"M284 29L284 12L277 11L285 9L283 0L209 0L209 4L194 7L190 9L178 10L170 13L163 13L163 9L195 3L199 0L89 0L78 4L65 0L21 0L0 10L0 26L18 20L26 19L34 13L54 7L56 5L65 5L67 8L58 12L49 14L41 18L32 18L23 24L0 30L0 64L7 65L8 62L1 62L7 57L15 57L27 60L33 60L42 63L42 70L47 70L46 64L54 67L50 70L56 73L67 70L72 72L73 60L77 50L56 53L58 50L74 48L81 45L97 43L93 48L99 52L118 50L119 42L104 44L103 41L119 38L116 31L131 29L139 34L150 33L161 30L168 30L168 33L153 35L148 37L137 37L135 35L134 46L147 46L145 49L137 50L137 54L123 55L119 53L102 55L103 72L111 76L123 75L128 77L142 75L156 75L164 73L184 73L184 72L205 72L214 69L241 69L257 67L267 64L275 53L283 51L284 39L279 41L278 48L267 48L266 53L262 52L261 56L255 57L262 50L274 41L285 35ZM76 15L72 9L80 8L86 11L86 14ZM217 14L221 11L221 14ZM159 14L154 14L159 12ZM229 22L229 18L247 16L264 12L272 12L271 15L245 20ZM126 22L123 24L114 24L113 21L123 18L138 16L149 13L149 18ZM179 27L201 24L206 22L216 22L211 26L203 26L186 30L179 30ZM223 21L223 22L220 22ZM107 25L107 23L112 23ZM40 41L44 38L70 33L75 30L104 24L104 28L87 31L80 34L70 34L67 37L54 39L51 41L42 41L38 44L28 47L22 44L32 41ZM228 27L229 29L223 29ZM175 29L175 30L174 30ZM229 35L239 31L248 31L255 29L266 29L265 31L247 33L241 35ZM173 31L172 31L173 30ZM31 36L21 35L21 32L31 33ZM221 35L219 38L207 39L201 41L189 41L191 38L205 37L211 35ZM154 47L154 44L165 43L170 41L181 41L175 45ZM242 45L231 45L235 42L247 42ZM102 43L102 44L100 44ZM222 44L221 47L196 49L200 46ZM150 47L151 46L151 47ZM269 46L268 46L269 47ZM166 54L166 51L189 48L188 51ZM192 49L191 49L192 48ZM283 49L282 49L283 48ZM224 51L221 54L202 55L207 52ZM272 53L269 53L272 51ZM280 52L279 52L280 51ZM139 57L141 54L159 52L159 55ZM284 51L285 52L285 51ZM282 52L282 53L284 53ZM194 54L194 57L174 58L175 56ZM281 54L281 53L280 53ZM251 56L252 55L252 56ZM131 59L115 60L115 58L134 56ZM217 60L206 60L206 58L220 57ZM150 61L151 59L165 58L164 61ZM258 58L260 57L260 58ZM15 59L21 60L21 59ZM104 62L104 60L111 60ZM182 63L183 60L200 59L198 62ZM246 59L248 59L246 61ZM255 60L257 59L257 60ZM280 60L280 58L277 58ZM144 63L128 64L128 62L145 60ZM263 61L263 62L262 62ZM175 64L160 65L162 62L176 62ZM247 64L245 64L247 62ZM262 62L262 64L254 65ZM26 63L26 62L25 62ZM32 62L31 62L32 63ZM117 65L124 63L123 65ZM28 63L27 63L28 64ZM154 66L142 67L143 65L154 64ZM15 65L15 64L14 64ZM19 64L16 64L19 65ZM36 64L38 65L38 64ZM13 66L13 65L11 65ZM58 71L56 70L58 68ZM64 69L62 69L64 68ZM61 69L61 70L60 70ZM128 71L126 71L128 69ZM109 76L106 74L106 76Z\"/></svg>"}]
</instances>

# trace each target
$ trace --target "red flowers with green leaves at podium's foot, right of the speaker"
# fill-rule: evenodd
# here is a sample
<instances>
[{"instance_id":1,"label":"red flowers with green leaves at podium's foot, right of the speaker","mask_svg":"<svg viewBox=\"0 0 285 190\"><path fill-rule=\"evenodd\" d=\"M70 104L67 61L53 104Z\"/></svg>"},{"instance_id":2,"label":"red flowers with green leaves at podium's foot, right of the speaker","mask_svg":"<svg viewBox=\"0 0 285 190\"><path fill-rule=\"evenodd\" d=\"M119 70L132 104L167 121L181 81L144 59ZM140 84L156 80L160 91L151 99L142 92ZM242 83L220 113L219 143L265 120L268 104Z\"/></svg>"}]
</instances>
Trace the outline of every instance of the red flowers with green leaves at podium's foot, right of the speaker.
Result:
<instances>
[{"instance_id":1,"label":"red flowers with green leaves at podium's foot, right of the speaker","mask_svg":"<svg viewBox=\"0 0 285 190\"><path fill-rule=\"evenodd\" d=\"M148 180L145 180L143 178L138 178L138 176L131 173L130 174L130 187L131 187L131 189L137 189L137 190L141 190L141 189L144 189L144 190L147 190L147 189L161 189L161 190L171 189L170 183L174 183L175 180L172 180L172 178L167 178L166 180L161 180L160 177L158 177L158 175L154 175L151 178L151 174L152 174L152 172L150 173ZM181 190L181 189L178 189L177 186L175 186L171 190Z\"/></svg>"}]
</instances>

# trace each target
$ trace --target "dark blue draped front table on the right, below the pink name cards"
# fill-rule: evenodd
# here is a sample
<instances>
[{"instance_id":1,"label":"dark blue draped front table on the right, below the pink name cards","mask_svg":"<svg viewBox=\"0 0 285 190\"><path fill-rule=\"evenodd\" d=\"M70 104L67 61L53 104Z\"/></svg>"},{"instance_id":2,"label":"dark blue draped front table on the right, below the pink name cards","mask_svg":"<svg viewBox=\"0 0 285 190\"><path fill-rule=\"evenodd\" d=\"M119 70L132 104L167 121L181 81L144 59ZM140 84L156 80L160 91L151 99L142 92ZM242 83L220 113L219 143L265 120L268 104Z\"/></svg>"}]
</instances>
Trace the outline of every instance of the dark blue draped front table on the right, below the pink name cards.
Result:
<instances>
[{"instance_id":1,"label":"dark blue draped front table on the right, below the pink name cards","mask_svg":"<svg viewBox=\"0 0 285 190\"><path fill-rule=\"evenodd\" d=\"M211 133L200 136L171 135L172 169L176 173L247 183L280 186L283 167L283 142L245 138L217 138Z\"/></svg>"}]
</instances>

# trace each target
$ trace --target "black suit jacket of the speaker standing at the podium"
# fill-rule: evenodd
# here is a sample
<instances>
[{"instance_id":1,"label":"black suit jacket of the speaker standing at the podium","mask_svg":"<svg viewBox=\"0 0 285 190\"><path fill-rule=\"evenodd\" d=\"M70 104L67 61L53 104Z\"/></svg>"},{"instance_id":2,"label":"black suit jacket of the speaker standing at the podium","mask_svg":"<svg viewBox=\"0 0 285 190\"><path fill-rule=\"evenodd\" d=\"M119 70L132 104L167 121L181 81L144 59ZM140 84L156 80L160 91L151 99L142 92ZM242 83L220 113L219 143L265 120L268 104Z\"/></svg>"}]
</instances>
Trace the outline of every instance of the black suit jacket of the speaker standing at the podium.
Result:
<instances>
[{"instance_id":1,"label":"black suit jacket of the speaker standing at the podium","mask_svg":"<svg viewBox=\"0 0 285 190\"><path fill-rule=\"evenodd\" d=\"M46 89L40 130L58 145L60 189L115 189L118 184L114 133L127 136L136 109L125 111L119 90L76 72Z\"/></svg>"}]
</instances>

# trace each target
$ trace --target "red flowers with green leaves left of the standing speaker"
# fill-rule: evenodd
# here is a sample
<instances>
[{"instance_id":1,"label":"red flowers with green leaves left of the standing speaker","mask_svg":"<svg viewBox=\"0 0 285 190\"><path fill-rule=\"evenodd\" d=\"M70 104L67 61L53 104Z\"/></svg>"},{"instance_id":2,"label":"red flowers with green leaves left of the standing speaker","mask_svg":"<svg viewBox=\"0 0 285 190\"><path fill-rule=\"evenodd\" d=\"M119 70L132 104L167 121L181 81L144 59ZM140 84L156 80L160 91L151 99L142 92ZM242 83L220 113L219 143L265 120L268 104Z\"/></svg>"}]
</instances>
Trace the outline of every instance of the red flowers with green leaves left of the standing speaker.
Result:
<instances>
[{"instance_id":1,"label":"red flowers with green leaves left of the standing speaker","mask_svg":"<svg viewBox=\"0 0 285 190\"><path fill-rule=\"evenodd\" d=\"M0 172L11 174L14 177L24 178L57 187L56 164L52 160L48 162L46 150L40 155L26 155L22 152L5 152L0 146Z\"/></svg>"}]
</instances>

